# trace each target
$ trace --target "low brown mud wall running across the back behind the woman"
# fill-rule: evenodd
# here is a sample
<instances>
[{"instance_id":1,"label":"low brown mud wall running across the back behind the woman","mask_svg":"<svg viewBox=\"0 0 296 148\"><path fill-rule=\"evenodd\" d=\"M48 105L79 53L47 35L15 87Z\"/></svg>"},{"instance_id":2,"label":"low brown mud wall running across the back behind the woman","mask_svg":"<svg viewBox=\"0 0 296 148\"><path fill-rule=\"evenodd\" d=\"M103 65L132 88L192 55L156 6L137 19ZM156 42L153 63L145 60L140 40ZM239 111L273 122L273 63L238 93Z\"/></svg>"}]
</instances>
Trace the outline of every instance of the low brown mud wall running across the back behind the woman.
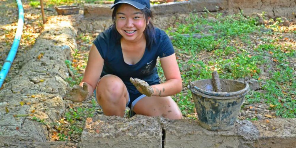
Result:
<instances>
[{"instance_id":1,"label":"low brown mud wall running across the back behind the woman","mask_svg":"<svg viewBox=\"0 0 296 148\"><path fill-rule=\"evenodd\" d=\"M110 6L85 4L84 18L76 22L78 31L93 32L108 28L112 24ZM223 15L238 14L241 11L243 15L265 12L271 19L281 16L289 20L296 19L296 0L190 0L152 5L153 23L158 28L166 29L176 22L182 22L189 12L204 13L205 8L209 12L221 12Z\"/></svg>"}]
</instances>

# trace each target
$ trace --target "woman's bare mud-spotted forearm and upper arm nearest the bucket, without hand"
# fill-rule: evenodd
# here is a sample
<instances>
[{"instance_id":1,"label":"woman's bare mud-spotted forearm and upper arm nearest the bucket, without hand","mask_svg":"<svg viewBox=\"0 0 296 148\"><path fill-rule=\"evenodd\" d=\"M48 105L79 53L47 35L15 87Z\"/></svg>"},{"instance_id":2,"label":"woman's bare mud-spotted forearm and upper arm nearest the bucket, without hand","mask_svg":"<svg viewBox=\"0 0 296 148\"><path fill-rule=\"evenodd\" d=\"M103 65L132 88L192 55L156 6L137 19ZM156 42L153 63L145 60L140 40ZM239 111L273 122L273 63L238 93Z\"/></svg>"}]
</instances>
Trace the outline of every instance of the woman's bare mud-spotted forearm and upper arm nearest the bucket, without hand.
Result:
<instances>
[{"instance_id":1,"label":"woman's bare mud-spotted forearm and upper arm nearest the bucket, without hand","mask_svg":"<svg viewBox=\"0 0 296 148\"><path fill-rule=\"evenodd\" d=\"M176 55L172 54L167 57L160 58L161 67L165 75L166 82L152 85L153 96L170 96L177 94L182 90L182 79Z\"/></svg>"}]
</instances>

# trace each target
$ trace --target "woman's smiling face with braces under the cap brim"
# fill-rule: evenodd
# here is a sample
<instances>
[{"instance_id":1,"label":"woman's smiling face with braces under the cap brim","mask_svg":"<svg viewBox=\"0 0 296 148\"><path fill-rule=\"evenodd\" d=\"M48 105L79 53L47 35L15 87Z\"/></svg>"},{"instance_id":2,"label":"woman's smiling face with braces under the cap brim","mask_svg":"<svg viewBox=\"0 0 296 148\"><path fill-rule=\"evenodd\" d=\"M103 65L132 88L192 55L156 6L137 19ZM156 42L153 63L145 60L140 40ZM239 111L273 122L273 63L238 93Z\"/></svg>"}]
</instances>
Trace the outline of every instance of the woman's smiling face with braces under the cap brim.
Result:
<instances>
[{"instance_id":1,"label":"woman's smiling face with braces under the cap brim","mask_svg":"<svg viewBox=\"0 0 296 148\"><path fill-rule=\"evenodd\" d=\"M129 4L121 4L116 12L116 29L126 41L139 41L144 37L145 21L141 10Z\"/></svg>"}]
</instances>

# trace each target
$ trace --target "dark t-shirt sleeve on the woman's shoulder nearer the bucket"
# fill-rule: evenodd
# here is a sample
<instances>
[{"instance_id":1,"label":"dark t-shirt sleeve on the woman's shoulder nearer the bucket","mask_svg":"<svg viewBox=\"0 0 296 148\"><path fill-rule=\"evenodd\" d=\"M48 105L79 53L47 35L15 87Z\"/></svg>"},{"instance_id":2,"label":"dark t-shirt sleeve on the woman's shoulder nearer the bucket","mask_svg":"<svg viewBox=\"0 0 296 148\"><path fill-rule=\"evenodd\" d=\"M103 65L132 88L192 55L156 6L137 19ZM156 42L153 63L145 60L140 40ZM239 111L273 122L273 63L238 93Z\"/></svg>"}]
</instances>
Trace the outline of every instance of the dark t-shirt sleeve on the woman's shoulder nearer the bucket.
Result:
<instances>
[{"instance_id":1,"label":"dark t-shirt sleeve on the woman's shoulder nearer the bucket","mask_svg":"<svg viewBox=\"0 0 296 148\"><path fill-rule=\"evenodd\" d=\"M170 38L168 35L162 31L161 37L160 37L160 46L158 50L158 56L160 58L167 57L175 53L174 47L172 42L170 41Z\"/></svg>"}]
</instances>

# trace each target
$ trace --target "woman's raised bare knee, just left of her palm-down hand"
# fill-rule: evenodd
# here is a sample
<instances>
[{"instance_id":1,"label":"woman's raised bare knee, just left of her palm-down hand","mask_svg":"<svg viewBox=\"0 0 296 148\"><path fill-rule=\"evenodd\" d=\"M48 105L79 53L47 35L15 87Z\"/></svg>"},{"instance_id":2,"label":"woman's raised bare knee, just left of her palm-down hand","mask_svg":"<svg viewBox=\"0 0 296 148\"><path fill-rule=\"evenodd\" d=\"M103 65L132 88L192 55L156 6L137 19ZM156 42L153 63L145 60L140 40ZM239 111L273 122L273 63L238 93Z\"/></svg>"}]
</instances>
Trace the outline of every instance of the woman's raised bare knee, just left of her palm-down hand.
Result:
<instances>
[{"instance_id":1,"label":"woman's raised bare knee, just left of her palm-down hand","mask_svg":"<svg viewBox=\"0 0 296 148\"><path fill-rule=\"evenodd\" d=\"M111 102L117 102L124 96L125 85L123 81L116 75L104 75L96 90L100 99L108 99Z\"/></svg>"}]
</instances>

